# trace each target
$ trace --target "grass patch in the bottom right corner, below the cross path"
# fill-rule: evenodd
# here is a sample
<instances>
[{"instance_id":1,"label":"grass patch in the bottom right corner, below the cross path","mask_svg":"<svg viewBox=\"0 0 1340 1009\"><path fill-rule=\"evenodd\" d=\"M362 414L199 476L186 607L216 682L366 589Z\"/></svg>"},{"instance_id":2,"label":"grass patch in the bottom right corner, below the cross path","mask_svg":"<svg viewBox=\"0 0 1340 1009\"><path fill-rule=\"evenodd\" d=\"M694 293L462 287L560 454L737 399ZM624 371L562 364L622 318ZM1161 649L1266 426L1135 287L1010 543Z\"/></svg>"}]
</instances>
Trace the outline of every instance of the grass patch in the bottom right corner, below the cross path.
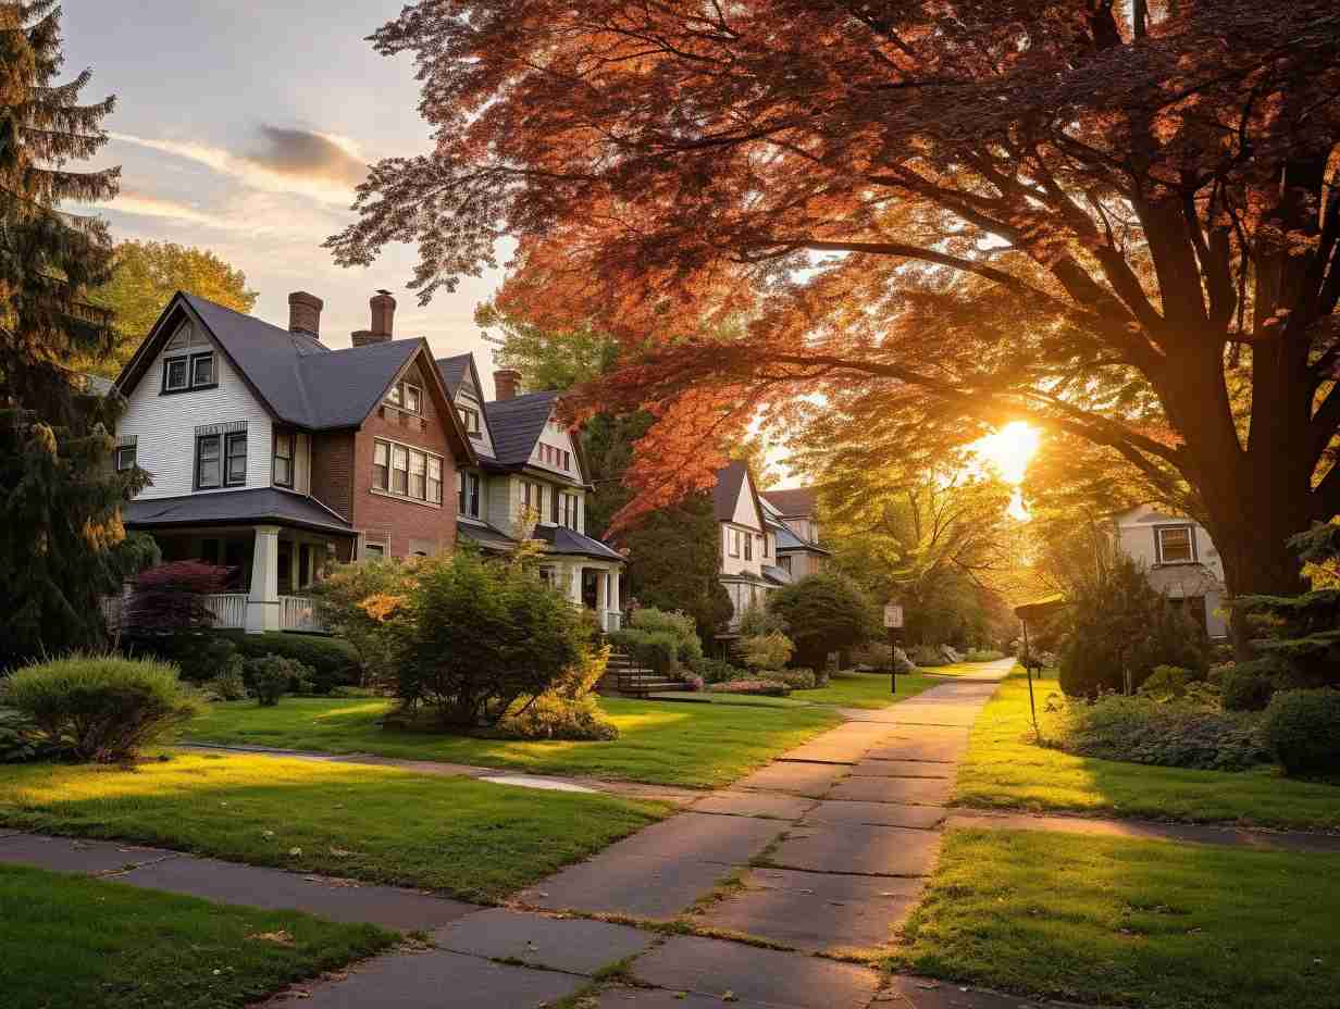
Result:
<instances>
[{"instance_id":1,"label":"grass patch in the bottom right corner, below the cross path","mask_svg":"<svg viewBox=\"0 0 1340 1009\"><path fill-rule=\"evenodd\" d=\"M1340 992L1340 855L951 831L892 966L1144 1009Z\"/></svg>"}]
</instances>

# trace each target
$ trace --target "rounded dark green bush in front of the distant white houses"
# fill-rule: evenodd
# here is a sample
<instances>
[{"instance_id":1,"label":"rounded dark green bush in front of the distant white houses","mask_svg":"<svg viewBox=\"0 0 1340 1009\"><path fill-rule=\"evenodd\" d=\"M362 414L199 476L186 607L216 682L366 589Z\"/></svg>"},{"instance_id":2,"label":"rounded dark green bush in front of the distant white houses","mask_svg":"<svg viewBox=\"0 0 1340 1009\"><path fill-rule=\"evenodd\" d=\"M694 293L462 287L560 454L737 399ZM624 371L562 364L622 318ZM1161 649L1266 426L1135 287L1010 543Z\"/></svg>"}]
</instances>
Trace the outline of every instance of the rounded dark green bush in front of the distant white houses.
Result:
<instances>
[{"instance_id":1,"label":"rounded dark green bush in front of the distant white houses","mask_svg":"<svg viewBox=\"0 0 1340 1009\"><path fill-rule=\"evenodd\" d=\"M821 669L828 653L860 645L879 632L870 598L838 572L783 586L769 598L768 608L787 622L796 661L812 669Z\"/></svg>"}]
</instances>

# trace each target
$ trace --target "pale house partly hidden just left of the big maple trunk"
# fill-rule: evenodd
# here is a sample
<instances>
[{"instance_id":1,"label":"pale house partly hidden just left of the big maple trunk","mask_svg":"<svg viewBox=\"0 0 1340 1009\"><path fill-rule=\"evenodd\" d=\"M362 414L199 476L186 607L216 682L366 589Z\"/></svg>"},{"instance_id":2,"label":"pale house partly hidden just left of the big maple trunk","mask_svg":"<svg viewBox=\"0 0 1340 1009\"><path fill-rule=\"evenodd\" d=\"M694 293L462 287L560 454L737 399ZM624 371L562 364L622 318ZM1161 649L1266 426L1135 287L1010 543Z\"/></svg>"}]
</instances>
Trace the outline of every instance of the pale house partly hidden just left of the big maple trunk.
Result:
<instances>
[{"instance_id":1,"label":"pale house partly hidden just left of the big maple trunk","mask_svg":"<svg viewBox=\"0 0 1340 1009\"><path fill-rule=\"evenodd\" d=\"M1227 638L1223 561L1206 528L1154 505L1138 505L1112 521L1118 548L1144 567L1150 584L1186 607L1210 638Z\"/></svg>"}]
</instances>

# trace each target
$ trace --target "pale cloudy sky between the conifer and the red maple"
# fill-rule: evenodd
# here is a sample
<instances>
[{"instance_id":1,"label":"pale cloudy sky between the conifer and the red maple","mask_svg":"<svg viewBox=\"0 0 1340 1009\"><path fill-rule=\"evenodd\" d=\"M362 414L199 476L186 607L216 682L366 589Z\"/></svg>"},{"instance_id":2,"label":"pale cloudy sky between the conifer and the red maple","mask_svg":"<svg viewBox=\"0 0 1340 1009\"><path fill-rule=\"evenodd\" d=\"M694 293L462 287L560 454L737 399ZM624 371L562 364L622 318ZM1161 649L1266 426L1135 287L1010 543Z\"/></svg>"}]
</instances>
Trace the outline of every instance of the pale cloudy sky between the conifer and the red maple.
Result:
<instances>
[{"instance_id":1,"label":"pale cloudy sky between the conifer and the red maple","mask_svg":"<svg viewBox=\"0 0 1340 1009\"><path fill-rule=\"evenodd\" d=\"M121 194L100 205L114 237L210 249L260 292L255 315L288 323L288 293L320 297L322 339L346 347L368 326L367 299L398 301L397 336L425 336L438 355L474 351L473 323L501 272L466 279L426 308L405 284L414 249L370 268L336 267L322 241L343 228L354 186L382 157L423 153L409 56L366 36L401 0L64 0L64 76L84 67L84 99L117 96L113 135L92 166L121 165ZM488 381L488 379L485 379Z\"/></svg>"}]
</instances>

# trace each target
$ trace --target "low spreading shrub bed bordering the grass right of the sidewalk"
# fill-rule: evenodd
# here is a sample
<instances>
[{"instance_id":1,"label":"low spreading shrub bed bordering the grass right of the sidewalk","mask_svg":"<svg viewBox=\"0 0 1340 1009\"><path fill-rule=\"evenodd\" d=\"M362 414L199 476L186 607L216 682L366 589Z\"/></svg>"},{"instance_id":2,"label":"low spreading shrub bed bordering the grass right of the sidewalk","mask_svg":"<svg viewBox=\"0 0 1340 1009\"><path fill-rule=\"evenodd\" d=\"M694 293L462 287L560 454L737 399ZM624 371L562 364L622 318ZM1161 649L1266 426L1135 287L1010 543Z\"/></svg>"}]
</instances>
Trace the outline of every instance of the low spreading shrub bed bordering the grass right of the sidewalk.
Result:
<instances>
[{"instance_id":1,"label":"low spreading shrub bed bordering the grass right of the sidewalk","mask_svg":"<svg viewBox=\"0 0 1340 1009\"><path fill-rule=\"evenodd\" d=\"M1201 770L1246 770L1270 758L1257 716L1120 694L1072 701L1068 716L1063 749L1083 757Z\"/></svg>"}]
</instances>

